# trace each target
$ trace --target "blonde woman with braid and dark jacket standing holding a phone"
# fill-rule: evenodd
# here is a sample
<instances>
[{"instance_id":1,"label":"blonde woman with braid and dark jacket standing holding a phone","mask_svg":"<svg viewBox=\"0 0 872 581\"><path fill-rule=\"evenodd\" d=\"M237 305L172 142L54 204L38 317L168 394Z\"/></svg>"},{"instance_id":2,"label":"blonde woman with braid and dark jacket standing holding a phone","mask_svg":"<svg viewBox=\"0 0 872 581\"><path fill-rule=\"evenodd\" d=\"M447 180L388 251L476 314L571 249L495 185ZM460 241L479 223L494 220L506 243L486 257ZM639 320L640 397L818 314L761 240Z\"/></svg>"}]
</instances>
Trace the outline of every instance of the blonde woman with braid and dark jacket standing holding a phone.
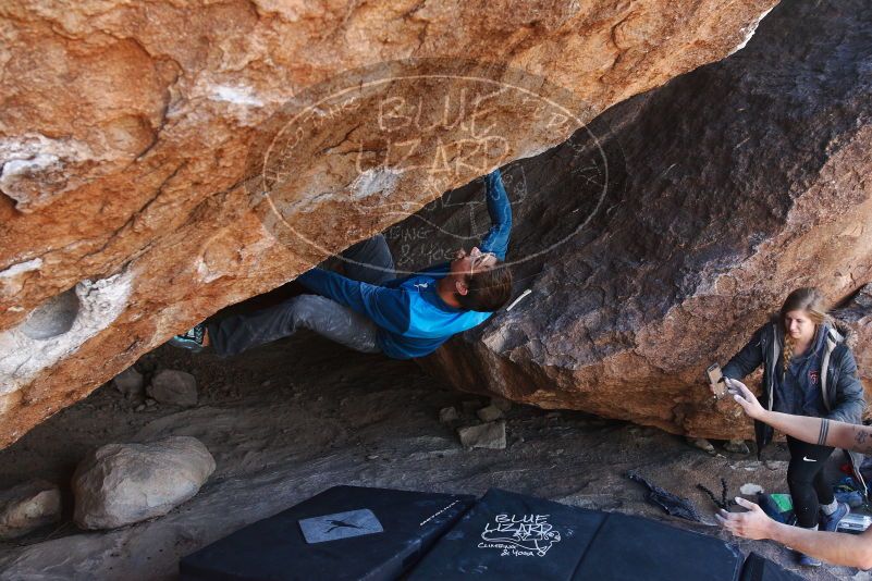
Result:
<instances>
[{"instance_id":1,"label":"blonde woman with braid and dark jacket standing holding a phone","mask_svg":"<svg viewBox=\"0 0 872 581\"><path fill-rule=\"evenodd\" d=\"M741 380L760 364L764 366L761 403L767 409L860 423L865 401L857 363L845 337L827 317L824 297L816 288L790 293L781 311L757 330L723 372ZM754 432L759 457L772 440L773 430L756 421ZM836 502L824 479L823 469L833 448L822 444L787 436L787 485L800 527L818 529L820 523L823 530L835 531L850 509ZM812 557L799 557L801 565L821 565Z\"/></svg>"}]
</instances>

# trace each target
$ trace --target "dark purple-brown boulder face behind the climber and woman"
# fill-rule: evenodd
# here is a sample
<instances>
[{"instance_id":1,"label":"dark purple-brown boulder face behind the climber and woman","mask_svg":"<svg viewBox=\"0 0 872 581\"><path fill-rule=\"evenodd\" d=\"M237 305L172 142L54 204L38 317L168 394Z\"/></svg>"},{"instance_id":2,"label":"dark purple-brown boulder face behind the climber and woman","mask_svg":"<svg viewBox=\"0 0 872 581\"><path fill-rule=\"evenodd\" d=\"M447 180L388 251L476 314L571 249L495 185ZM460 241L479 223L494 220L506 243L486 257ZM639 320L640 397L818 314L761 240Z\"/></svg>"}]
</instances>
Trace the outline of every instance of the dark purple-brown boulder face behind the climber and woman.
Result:
<instances>
[{"instance_id":1,"label":"dark purple-brown boulder face behind the climber and woman","mask_svg":"<svg viewBox=\"0 0 872 581\"><path fill-rule=\"evenodd\" d=\"M816 285L839 301L872 280L870 30L862 1L782 2L745 50L606 112L593 125L613 161L607 193L538 260L524 261L539 233L554 236L599 191L569 171L593 148L579 132L511 168L508 258L516 294L532 293L425 364L543 407L750 437L734 404L713 407L705 367L790 289ZM869 336L868 313L856 322ZM870 345L858 354L868 388Z\"/></svg>"}]
</instances>

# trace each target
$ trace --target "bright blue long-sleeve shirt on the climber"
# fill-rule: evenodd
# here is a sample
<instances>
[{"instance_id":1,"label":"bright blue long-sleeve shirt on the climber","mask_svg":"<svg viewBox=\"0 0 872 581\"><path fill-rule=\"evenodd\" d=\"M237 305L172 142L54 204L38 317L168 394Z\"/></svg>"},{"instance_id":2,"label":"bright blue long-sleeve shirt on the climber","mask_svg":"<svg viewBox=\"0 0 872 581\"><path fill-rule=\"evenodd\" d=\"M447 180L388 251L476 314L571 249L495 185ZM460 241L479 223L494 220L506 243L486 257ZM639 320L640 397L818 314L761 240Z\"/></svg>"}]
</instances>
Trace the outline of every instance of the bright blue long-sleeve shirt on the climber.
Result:
<instances>
[{"instance_id":1,"label":"bright blue long-sleeve shirt on the climber","mask_svg":"<svg viewBox=\"0 0 872 581\"><path fill-rule=\"evenodd\" d=\"M504 260L512 230L512 207L500 170L488 174L484 184L491 228L479 248ZM457 309L440 298L437 285L450 270L451 263L443 262L374 285L316 268L299 275L297 281L309 290L371 319L379 327L379 347L386 356L410 359L433 353L455 333L472 329L493 314Z\"/></svg>"}]
</instances>

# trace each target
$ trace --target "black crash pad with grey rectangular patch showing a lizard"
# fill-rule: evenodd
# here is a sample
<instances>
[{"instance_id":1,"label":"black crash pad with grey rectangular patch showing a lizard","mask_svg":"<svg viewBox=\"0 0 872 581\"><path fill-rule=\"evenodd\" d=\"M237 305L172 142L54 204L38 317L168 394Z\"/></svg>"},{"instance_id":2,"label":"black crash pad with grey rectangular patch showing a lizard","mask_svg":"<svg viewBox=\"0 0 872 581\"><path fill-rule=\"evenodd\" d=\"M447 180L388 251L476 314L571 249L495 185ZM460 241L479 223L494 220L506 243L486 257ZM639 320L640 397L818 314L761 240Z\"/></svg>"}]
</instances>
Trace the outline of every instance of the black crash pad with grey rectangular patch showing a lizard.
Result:
<instances>
[{"instance_id":1,"label":"black crash pad with grey rectangular patch showing a lizard","mask_svg":"<svg viewBox=\"0 0 872 581\"><path fill-rule=\"evenodd\" d=\"M395 579L474 503L466 495L334 486L184 557L179 569L192 581ZM310 540L334 540L307 543L304 529Z\"/></svg>"}]
</instances>

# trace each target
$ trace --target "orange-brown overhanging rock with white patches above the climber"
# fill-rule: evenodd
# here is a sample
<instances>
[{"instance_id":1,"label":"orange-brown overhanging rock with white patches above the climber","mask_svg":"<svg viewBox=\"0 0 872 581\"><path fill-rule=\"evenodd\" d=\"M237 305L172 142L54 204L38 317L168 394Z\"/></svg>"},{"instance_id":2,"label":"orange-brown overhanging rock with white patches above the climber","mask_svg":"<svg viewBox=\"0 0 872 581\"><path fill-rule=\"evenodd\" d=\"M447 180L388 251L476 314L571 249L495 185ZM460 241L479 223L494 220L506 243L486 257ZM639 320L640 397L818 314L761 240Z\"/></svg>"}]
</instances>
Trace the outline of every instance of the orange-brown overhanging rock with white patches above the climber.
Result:
<instances>
[{"instance_id":1,"label":"orange-brown overhanging rock with white patches above the climber","mask_svg":"<svg viewBox=\"0 0 872 581\"><path fill-rule=\"evenodd\" d=\"M563 141L627 97L725 57L774 3L4 3L0 445L219 308L279 286L505 160ZM465 66L458 57L501 64ZM470 166L460 162L471 125L379 128L382 118L369 114L379 89L368 85L359 90L369 109L307 118L319 139L282 158L297 165L280 163L268 176L279 177L267 186L286 202L279 212L270 214L257 180L244 187L257 174L246 170L249 147L295 135L267 123L283 103L311 102L304 88L343 71L409 58L450 59L455 72L513 81L508 65L586 104L578 119L553 124L509 91L514 100L476 112L503 140ZM409 70L431 67L389 73ZM391 95L406 104L426 98L416 120L427 125L459 88L449 85L396 84ZM290 141L279 143L281 158ZM444 161L456 171L397 177L391 158L385 171L367 174L348 154L371 162L401 143L407 149L393 154L419 166L452 144ZM374 194L390 195L397 209L347 203ZM277 243L265 217L290 222L314 245Z\"/></svg>"}]
</instances>

